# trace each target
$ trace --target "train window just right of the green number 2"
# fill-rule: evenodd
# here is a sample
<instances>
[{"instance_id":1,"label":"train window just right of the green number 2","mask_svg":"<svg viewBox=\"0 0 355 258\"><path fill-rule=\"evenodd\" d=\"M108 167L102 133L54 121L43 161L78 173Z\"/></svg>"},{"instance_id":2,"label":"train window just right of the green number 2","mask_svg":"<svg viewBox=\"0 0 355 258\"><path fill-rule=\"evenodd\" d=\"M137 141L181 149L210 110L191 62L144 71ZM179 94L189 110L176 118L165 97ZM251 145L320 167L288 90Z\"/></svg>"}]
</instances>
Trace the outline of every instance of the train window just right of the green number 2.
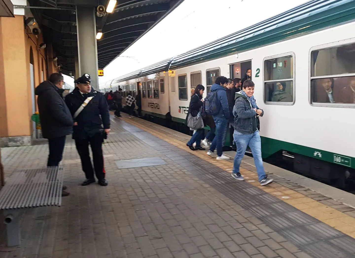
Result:
<instances>
[{"instance_id":1,"label":"train window just right of the green number 2","mask_svg":"<svg viewBox=\"0 0 355 258\"><path fill-rule=\"evenodd\" d=\"M294 53L264 59L264 102L293 105L295 102Z\"/></svg>"}]
</instances>

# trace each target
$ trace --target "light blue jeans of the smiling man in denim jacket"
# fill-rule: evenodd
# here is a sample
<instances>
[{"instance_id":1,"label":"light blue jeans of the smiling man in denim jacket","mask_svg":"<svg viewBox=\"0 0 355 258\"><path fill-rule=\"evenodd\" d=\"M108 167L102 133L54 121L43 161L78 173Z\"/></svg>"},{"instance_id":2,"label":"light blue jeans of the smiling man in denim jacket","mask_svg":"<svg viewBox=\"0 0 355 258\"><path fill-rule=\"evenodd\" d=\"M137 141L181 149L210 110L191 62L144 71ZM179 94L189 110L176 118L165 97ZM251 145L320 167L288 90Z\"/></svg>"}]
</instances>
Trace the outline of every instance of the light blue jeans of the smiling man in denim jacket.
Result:
<instances>
[{"instance_id":1,"label":"light blue jeans of the smiling man in denim jacket","mask_svg":"<svg viewBox=\"0 0 355 258\"><path fill-rule=\"evenodd\" d=\"M237 145L237 154L234 157L233 173L239 174L240 163L244 157L246 147L249 145L254 157L256 171L258 172L259 182L266 178L263 159L261 157L261 139L259 131L256 130L253 134L243 134L234 130L234 141Z\"/></svg>"}]
</instances>

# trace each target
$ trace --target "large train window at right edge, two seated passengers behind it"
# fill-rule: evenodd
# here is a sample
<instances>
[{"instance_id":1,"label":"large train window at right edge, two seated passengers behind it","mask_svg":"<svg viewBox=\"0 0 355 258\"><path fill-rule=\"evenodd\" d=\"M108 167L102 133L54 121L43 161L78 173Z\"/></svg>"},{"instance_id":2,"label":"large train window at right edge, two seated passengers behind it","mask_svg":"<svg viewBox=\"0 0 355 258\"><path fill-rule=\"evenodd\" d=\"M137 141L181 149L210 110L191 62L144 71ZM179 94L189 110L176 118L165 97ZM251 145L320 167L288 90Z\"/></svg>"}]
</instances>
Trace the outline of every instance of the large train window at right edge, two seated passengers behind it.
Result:
<instances>
[{"instance_id":1,"label":"large train window at right edge, two seated passengers behind it","mask_svg":"<svg viewBox=\"0 0 355 258\"><path fill-rule=\"evenodd\" d=\"M311 51L311 104L355 108L355 43Z\"/></svg>"}]
</instances>

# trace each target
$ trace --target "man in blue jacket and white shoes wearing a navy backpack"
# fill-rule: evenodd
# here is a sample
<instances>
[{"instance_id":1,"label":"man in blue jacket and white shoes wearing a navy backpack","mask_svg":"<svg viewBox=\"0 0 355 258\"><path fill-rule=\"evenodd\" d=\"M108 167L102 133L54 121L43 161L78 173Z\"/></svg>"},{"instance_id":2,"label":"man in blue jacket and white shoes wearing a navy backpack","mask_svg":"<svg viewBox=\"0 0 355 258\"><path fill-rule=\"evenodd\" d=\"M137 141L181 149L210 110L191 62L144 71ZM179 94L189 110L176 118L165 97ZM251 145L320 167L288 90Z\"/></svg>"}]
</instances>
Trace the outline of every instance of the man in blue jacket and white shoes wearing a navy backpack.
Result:
<instances>
[{"instance_id":1,"label":"man in blue jacket and white shoes wearing a navy backpack","mask_svg":"<svg viewBox=\"0 0 355 258\"><path fill-rule=\"evenodd\" d=\"M208 96L211 97L211 99L215 98L218 113L216 115L212 115L216 125L217 135L213 139L207 155L215 157L214 151L217 148L217 160L229 160L229 157L223 154L223 137L230 117L226 94L227 84L228 79L224 76L219 76L212 85L211 92L208 93ZM213 109L213 107L211 107L211 109Z\"/></svg>"}]
</instances>

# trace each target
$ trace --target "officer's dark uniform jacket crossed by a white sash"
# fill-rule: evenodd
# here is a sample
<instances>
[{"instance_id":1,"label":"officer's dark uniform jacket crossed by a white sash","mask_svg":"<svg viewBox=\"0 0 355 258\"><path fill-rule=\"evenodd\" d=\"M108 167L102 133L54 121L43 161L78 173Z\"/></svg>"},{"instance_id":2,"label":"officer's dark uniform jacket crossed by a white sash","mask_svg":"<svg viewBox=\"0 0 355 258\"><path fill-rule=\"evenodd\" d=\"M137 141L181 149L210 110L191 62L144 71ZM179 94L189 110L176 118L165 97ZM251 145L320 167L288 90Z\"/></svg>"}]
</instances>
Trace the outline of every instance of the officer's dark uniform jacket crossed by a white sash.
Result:
<instances>
[{"instance_id":1,"label":"officer's dark uniform jacket crossed by a white sash","mask_svg":"<svg viewBox=\"0 0 355 258\"><path fill-rule=\"evenodd\" d=\"M86 97L93 96L93 99L86 105L81 113L74 119L78 125L73 127L73 139L87 139L104 129L110 128L110 114L105 96L94 88L87 94ZM69 107L72 115L77 111L80 105L86 100L76 87L69 95L65 97L65 103ZM100 117L101 116L101 117Z\"/></svg>"}]
</instances>

